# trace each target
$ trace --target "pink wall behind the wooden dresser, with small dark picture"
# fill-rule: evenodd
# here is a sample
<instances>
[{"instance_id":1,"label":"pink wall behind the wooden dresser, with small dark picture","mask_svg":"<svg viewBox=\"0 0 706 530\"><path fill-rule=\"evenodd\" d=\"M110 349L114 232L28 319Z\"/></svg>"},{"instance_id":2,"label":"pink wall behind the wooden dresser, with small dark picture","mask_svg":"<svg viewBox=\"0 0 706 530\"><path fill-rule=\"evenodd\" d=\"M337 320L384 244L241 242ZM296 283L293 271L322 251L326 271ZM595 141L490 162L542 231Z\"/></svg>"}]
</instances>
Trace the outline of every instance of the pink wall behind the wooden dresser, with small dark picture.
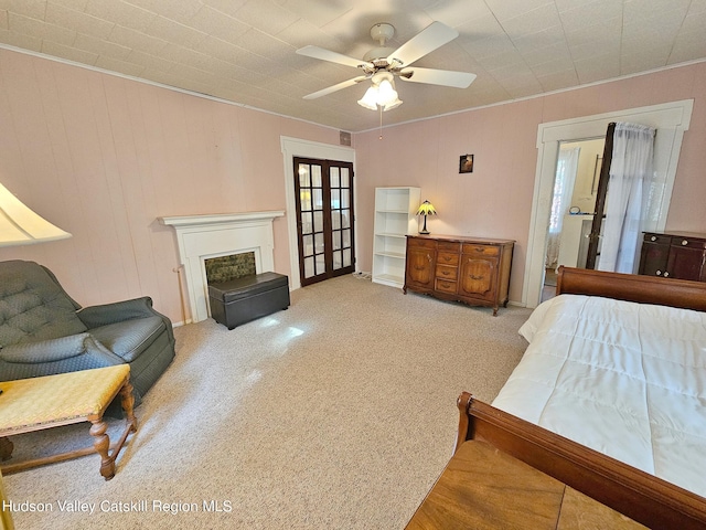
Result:
<instances>
[{"instance_id":1,"label":"pink wall behind the wooden dresser, with small dark picture","mask_svg":"<svg viewBox=\"0 0 706 530\"><path fill-rule=\"evenodd\" d=\"M694 102L667 229L706 232L706 63L355 135L359 265L371 269L377 186L417 186L437 234L516 241L510 299L521 300L542 123L660 103ZM393 110L394 112L394 110ZM472 173L459 157L474 155Z\"/></svg>"}]
</instances>

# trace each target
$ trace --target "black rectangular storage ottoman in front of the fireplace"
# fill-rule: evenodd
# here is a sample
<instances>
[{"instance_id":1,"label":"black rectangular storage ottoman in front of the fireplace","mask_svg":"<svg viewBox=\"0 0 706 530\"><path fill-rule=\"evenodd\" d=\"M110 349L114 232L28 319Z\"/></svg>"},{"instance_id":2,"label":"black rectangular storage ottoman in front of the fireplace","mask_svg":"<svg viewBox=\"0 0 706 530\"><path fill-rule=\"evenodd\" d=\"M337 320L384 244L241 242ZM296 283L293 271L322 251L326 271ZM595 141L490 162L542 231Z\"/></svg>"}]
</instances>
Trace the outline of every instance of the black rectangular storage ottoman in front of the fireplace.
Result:
<instances>
[{"instance_id":1,"label":"black rectangular storage ottoman in front of the fireplace","mask_svg":"<svg viewBox=\"0 0 706 530\"><path fill-rule=\"evenodd\" d=\"M208 286L213 319L233 329L289 307L289 278L263 273Z\"/></svg>"}]
</instances>

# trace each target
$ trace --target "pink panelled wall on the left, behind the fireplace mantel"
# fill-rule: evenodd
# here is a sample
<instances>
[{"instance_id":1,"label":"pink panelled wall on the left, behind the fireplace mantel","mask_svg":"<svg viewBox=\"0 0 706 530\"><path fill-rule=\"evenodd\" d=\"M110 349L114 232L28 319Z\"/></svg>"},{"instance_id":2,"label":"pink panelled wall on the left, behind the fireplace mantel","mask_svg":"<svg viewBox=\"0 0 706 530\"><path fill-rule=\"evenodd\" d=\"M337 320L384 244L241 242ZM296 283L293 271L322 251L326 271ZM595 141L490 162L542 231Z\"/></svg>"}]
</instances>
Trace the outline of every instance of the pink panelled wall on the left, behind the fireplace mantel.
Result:
<instances>
[{"instance_id":1,"label":"pink panelled wall on the left, behind the fireplace mantel","mask_svg":"<svg viewBox=\"0 0 706 530\"><path fill-rule=\"evenodd\" d=\"M82 305L149 295L182 320L173 230L157 218L285 210L280 135L339 131L0 50L0 182L71 232L0 250L50 267ZM287 224L275 267L289 274Z\"/></svg>"}]
</instances>

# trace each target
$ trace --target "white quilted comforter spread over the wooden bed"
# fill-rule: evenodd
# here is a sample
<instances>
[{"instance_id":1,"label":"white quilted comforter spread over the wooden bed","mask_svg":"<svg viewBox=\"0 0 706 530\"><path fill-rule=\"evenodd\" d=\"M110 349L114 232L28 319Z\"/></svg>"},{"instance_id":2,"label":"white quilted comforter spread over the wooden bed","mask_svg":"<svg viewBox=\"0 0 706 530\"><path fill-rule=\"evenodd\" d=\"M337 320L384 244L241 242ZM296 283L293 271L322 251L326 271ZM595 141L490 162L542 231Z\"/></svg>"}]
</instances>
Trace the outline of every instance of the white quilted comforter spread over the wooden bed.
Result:
<instances>
[{"instance_id":1,"label":"white quilted comforter spread over the wooden bed","mask_svg":"<svg viewBox=\"0 0 706 530\"><path fill-rule=\"evenodd\" d=\"M706 497L706 315L561 295L493 405Z\"/></svg>"}]
</instances>

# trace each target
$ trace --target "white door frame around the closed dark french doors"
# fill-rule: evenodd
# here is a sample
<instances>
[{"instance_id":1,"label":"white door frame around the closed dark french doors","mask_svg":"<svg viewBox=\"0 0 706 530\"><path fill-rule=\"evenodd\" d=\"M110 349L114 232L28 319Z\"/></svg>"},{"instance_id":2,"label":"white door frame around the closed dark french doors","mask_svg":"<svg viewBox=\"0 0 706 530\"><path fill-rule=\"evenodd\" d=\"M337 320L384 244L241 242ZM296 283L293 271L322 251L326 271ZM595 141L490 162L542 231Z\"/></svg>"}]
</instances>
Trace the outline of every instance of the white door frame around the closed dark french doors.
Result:
<instances>
[{"instance_id":1,"label":"white door frame around the closed dark french doors","mask_svg":"<svg viewBox=\"0 0 706 530\"><path fill-rule=\"evenodd\" d=\"M289 240L289 288L291 290L301 287L299 278L299 243L297 237L297 194L295 193L295 157L313 158L320 160L339 160L341 162L353 163L355 170L355 149L345 146L334 146L318 141L302 140L280 136L280 147L282 152L282 163L285 169L285 195L286 195L286 219L287 235ZM357 186L353 187L353 223L357 219ZM354 247L359 248L357 225L354 226ZM357 265L356 265L357 267ZM356 268L357 269L357 268Z\"/></svg>"}]
</instances>

